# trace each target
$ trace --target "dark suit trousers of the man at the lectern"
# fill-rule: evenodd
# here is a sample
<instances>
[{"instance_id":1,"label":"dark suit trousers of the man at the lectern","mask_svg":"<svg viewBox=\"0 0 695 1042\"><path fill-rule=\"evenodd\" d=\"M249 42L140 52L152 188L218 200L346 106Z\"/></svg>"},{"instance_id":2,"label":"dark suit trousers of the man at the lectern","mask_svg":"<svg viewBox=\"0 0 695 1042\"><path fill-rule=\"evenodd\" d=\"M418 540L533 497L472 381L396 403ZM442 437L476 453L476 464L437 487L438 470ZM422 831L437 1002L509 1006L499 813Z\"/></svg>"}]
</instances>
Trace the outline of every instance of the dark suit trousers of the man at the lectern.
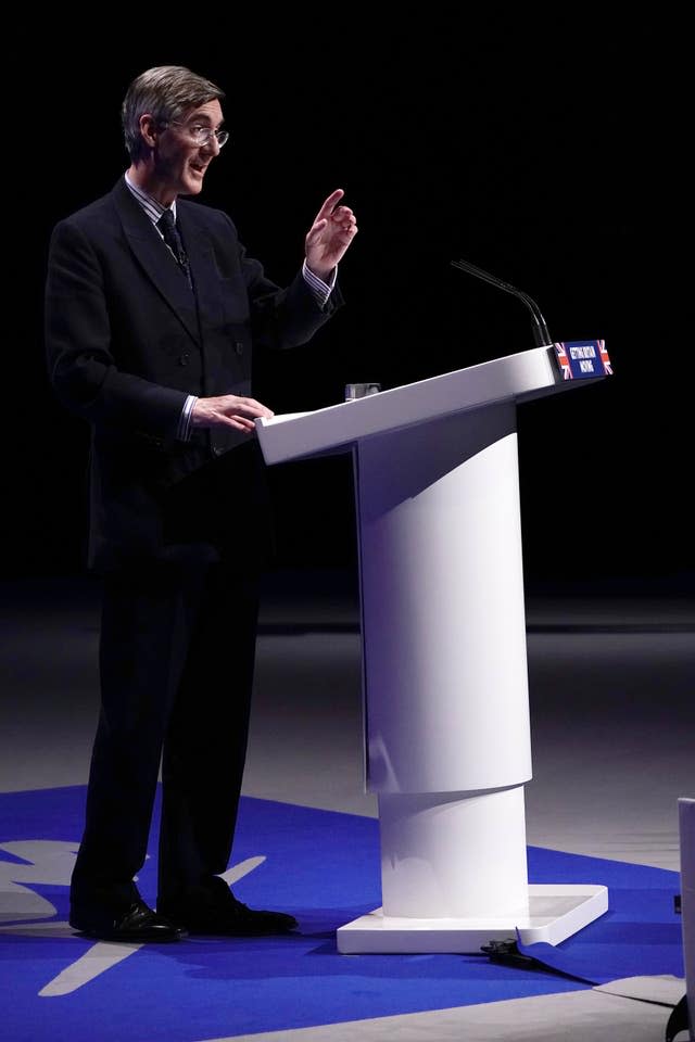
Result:
<instances>
[{"instance_id":1,"label":"dark suit trousers of the man at the lectern","mask_svg":"<svg viewBox=\"0 0 695 1042\"><path fill-rule=\"evenodd\" d=\"M247 750L257 579L149 562L104 577L101 712L76 903L137 897L162 764L157 901L226 871Z\"/></svg>"}]
</instances>

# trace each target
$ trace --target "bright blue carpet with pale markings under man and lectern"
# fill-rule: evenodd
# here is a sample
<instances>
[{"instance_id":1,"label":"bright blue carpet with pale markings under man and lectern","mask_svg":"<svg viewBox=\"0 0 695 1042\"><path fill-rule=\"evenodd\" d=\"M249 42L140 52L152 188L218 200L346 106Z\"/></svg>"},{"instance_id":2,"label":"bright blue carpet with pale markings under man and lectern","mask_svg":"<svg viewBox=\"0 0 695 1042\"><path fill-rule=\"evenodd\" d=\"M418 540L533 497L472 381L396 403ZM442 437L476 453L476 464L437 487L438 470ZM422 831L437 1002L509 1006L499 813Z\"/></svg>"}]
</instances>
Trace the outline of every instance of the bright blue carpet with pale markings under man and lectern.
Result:
<instances>
[{"instance_id":1,"label":"bright blue carpet with pale markings under man and lectern","mask_svg":"<svg viewBox=\"0 0 695 1042\"><path fill-rule=\"evenodd\" d=\"M618 977L683 976L678 873L534 847L531 882L609 888L601 919L557 949L525 950L573 977L500 965L482 953L339 955L338 927L381 903L378 823L245 798L232 864L265 860L235 893L293 913L300 933L144 945L88 970L79 986L65 984L66 970L80 971L90 961L75 963L94 954L93 942L56 926L67 919L84 800L84 787L0 795L0 1016L12 1042L192 1042L577 991ZM139 878L150 902L154 885L151 857Z\"/></svg>"}]
</instances>

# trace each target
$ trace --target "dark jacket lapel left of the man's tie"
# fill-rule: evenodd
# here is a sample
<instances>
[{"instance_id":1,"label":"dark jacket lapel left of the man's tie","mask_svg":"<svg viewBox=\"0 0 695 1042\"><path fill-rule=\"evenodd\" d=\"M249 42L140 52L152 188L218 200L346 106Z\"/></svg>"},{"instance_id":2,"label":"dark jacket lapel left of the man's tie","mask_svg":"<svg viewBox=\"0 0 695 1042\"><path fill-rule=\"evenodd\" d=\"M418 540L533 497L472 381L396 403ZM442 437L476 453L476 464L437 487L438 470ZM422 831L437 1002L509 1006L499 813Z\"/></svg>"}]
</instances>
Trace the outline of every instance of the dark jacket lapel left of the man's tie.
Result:
<instances>
[{"instance_id":1,"label":"dark jacket lapel left of the man's tie","mask_svg":"<svg viewBox=\"0 0 695 1042\"><path fill-rule=\"evenodd\" d=\"M195 298L178 265L169 256L156 228L132 196L125 180L118 181L113 191L113 198L123 230L144 275L156 285L162 296L176 312L181 325L195 343L200 343ZM195 278L194 269L193 278Z\"/></svg>"}]
</instances>

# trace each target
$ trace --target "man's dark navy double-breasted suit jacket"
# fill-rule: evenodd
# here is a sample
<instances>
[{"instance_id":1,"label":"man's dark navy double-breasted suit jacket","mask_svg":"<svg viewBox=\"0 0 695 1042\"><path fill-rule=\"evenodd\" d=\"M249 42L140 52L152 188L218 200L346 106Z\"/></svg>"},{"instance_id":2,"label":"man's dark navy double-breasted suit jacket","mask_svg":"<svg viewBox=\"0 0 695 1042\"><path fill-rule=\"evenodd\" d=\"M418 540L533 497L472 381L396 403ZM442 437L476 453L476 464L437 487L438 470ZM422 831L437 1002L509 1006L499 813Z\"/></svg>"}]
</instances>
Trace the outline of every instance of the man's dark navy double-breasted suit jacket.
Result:
<instances>
[{"instance_id":1,"label":"man's dark navy double-breasted suit jacket","mask_svg":"<svg viewBox=\"0 0 695 1042\"><path fill-rule=\"evenodd\" d=\"M222 211L179 199L193 290L121 178L60 221L49 250L46 343L63 404L92 428L89 563L224 558L266 532L263 465L231 428L177 437L189 394L251 394L254 348L306 342L321 309L298 272L266 278ZM262 542L262 541L261 541Z\"/></svg>"}]
</instances>

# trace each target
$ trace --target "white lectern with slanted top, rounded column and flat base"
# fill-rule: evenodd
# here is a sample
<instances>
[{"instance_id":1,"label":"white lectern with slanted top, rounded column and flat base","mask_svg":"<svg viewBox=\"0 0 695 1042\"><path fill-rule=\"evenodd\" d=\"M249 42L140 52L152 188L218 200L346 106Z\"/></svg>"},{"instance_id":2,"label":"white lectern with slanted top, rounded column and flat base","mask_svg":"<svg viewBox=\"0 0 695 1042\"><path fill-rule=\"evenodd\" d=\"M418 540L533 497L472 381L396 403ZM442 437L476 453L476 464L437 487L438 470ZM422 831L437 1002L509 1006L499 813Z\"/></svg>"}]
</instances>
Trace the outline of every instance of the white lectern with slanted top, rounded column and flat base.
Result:
<instances>
[{"instance_id":1,"label":"white lectern with slanted top, rounded column and flat base","mask_svg":"<svg viewBox=\"0 0 695 1042\"><path fill-rule=\"evenodd\" d=\"M478 953L517 930L557 944L607 911L603 886L529 885L523 808L516 407L589 382L536 347L257 421L269 465L353 453L382 907L338 930L342 953Z\"/></svg>"}]
</instances>

